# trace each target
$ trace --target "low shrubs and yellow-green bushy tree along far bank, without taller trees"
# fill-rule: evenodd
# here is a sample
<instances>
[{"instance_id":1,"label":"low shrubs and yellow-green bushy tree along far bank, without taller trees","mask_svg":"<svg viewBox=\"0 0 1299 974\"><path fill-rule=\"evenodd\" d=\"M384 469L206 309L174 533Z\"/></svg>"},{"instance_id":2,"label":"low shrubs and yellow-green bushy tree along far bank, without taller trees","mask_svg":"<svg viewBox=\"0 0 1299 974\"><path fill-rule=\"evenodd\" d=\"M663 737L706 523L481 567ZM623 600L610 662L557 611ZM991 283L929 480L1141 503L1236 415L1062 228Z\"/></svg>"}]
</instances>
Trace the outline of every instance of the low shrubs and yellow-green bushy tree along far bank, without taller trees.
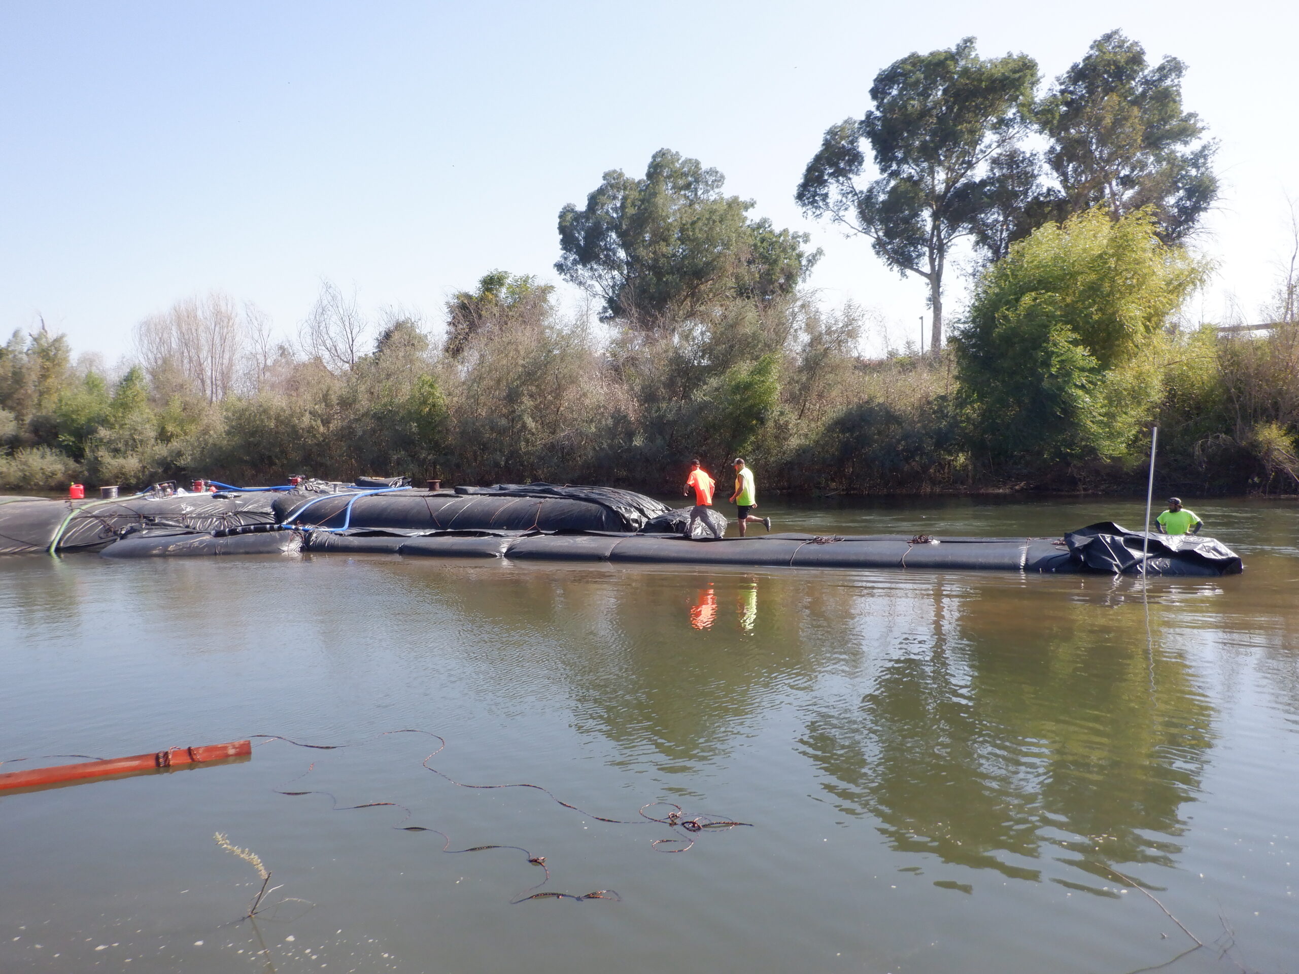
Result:
<instances>
[{"instance_id":1,"label":"low shrubs and yellow-green bushy tree along far bank, without taller trees","mask_svg":"<svg viewBox=\"0 0 1299 974\"><path fill-rule=\"evenodd\" d=\"M45 331L0 348L0 486L303 473L672 492L691 456L727 486L740 453L764 490L1134 490L1157 422L1161 483L1293 491L1294 301L1259 335L1178 331L1196 273L1141 214L1048 225L985 271L953 348L883 360L859 356L857 309L799 293L601 334L498 273L448 304L446 347L403 313L366 345L333 288L299 348L231 323L229 300L188 301L116 381ZM217 326L220 347L195 338Z\"/></svg>"}]
</instances>

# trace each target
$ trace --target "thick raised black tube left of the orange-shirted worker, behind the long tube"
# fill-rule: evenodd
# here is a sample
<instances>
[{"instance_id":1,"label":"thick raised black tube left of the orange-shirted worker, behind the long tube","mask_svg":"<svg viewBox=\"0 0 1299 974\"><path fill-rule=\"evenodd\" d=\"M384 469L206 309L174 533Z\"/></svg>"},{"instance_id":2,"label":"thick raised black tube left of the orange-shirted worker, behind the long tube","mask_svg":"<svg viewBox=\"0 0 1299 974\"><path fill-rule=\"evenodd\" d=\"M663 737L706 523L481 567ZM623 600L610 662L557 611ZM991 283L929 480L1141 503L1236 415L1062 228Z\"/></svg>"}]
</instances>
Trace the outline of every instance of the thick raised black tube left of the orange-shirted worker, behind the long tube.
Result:
<instances>
[{"instance_id":1,"label":"thick raised black tube left of the orange-shirted worker, behind the long tube","mask_svg":"<svg viewBox=\"0 0 1299 974\"><path fill-rule=\"evenodd\" d=\"M317 500L320 499L320 500ZM648 500L648 499L647 499ZM351 518L347 506L351 503ZM430 491L359 495L292 492L271 503L294 525L403 529L414 531L627 531L609 506L574 497L456 495ZM305 506L310 504L310 506ZM300 513L299 513L300 512Z\"/></svg>"}]
</instances>

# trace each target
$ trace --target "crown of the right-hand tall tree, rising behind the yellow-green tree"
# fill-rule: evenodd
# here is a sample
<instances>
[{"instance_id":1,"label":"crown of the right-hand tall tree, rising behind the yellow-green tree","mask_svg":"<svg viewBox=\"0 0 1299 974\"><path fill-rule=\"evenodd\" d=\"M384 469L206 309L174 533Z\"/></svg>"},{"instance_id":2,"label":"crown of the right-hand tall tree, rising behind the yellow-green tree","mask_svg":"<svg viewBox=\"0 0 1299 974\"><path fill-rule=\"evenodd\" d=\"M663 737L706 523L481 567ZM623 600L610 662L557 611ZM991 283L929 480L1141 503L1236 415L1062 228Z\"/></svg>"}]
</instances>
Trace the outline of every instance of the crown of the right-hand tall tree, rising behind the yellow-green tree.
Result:
<instances>
[{"instance_id":1,"label":"crown of the right-hand tall tree, rising behind the yellow-green tree","mask_svg":"<svg viewBox=\"0 0 1299 974\"><path fill-rule=\"evenodd\" d=\"M1202 142L1199 117L1182 110L1185 73L1176 57L1148 66L1144 48L1116 30L1056 79L1037 119L1051 139L1064 213L1104 204L1121 219L1152 206L1165 243L1195 230L1218 183L1216 144Z\"/></svg>"}]
</instances>

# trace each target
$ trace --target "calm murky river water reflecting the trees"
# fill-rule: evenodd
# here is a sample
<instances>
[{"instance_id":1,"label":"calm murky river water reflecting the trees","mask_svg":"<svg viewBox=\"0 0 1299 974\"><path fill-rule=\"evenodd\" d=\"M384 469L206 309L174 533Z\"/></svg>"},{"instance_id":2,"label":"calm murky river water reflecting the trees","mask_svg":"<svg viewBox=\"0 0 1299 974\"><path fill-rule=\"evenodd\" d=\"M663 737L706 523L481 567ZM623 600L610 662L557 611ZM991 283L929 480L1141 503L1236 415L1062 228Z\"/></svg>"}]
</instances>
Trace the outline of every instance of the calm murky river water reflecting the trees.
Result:
<instances>
[{"instance_id":1,"label":"calm murky river water reflecting the trees","mask_svg":"<svg viewBox=\"0 0 1299 974\"><path fill-rule=\"evenodd\" d=\"M0 758L351 744L0 797L0 971L1296 971L1299 505L1189 500L1243 575L0 560Z\"/></svg>"}]
</instances>

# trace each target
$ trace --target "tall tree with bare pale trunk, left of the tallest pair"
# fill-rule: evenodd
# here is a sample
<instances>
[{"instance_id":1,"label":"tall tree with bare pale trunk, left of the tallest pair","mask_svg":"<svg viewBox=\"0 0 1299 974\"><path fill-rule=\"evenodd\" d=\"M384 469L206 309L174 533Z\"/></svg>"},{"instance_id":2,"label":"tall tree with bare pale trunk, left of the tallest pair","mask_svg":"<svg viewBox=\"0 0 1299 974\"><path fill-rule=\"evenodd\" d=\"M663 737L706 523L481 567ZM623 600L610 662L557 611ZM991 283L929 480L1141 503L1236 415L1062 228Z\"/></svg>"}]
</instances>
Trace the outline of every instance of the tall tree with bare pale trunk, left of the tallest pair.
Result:
<instances>
[{"instance_id":1,"label":"tall tree with bare pale trunk, left of the tallest pair","mask_svg":"<svg viewBox=\"0 0 1299 974\"><path fill-rule=\"evenodd\" d=\"M868 236L890 268L929 283L935 353L948 252L989 208L987 164L1025 130L1037 81L1033 58L982 60L973 38L911 53L876 75L864 118L826 131L795 194L805 213ZM868 186L863 140L881 174Z\"/></svg>"}]
</instances>

